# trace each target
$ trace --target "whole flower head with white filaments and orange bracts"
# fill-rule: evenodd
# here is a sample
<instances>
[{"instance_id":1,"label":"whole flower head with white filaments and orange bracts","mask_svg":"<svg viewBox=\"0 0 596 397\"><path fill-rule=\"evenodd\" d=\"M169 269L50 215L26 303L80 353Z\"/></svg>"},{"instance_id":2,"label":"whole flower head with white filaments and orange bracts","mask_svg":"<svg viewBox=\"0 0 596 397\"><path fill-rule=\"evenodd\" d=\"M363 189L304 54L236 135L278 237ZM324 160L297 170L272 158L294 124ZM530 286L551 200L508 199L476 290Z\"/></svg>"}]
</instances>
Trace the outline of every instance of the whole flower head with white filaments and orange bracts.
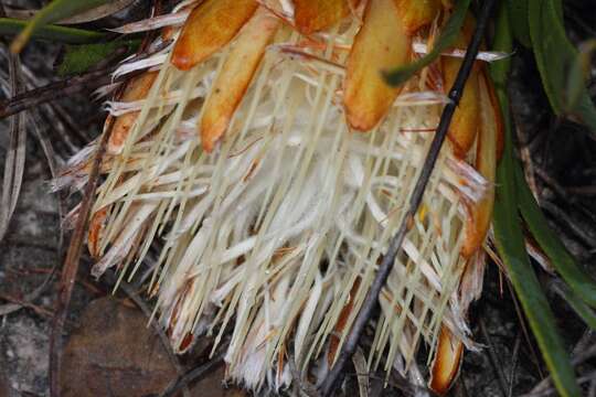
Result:
<instances>
[{"instance_id":1,"label":"whole flower head with white filaments and orange bracts","mask_svg":"<svg viewBox=\"0 0 596 397\"><path fill-rule=\"evenodd\" d=\"M150 67L109 104L93 273L132 278L160 239L147 290L177 352L230 334L226 374L255 389L288 385L290 366L324 374L403 221L461 60L446 54L401 87L381 72L433 45L444 3L185 1L151 21L164 26L155 47L173 42L120 71ZM496 109L478 62L371 321L370 368L406 374L426 344L439 393L475 348L466 316L482 283ZM57 185L84 184L89 153Z\"/></svg>"}]
</instances>

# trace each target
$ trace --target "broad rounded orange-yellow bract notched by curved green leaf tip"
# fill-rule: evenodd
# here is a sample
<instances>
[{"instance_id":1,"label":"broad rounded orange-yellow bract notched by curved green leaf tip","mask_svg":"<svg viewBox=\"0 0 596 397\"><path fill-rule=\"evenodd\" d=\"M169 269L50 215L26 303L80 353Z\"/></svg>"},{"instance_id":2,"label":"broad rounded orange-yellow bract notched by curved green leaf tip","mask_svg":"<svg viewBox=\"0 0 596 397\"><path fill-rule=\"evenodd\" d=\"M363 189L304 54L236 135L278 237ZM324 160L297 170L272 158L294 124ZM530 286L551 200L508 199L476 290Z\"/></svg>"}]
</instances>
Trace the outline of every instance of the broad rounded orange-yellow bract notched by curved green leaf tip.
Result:
<instances>
[{"instance_id":1,"label":"broad rounded orange-yellow bract notched by curved green leaf tip","mask_svg":"<svg viewBox=\"0 0 596 397\"><path fill-rule=\"evenodd\" d=\"M401 87L385 83L382 71L408 61L411 40L393 0L371 0L348 58L343 101L350 127L369 131L381 121Z\"/></svg>"}]
</instances>

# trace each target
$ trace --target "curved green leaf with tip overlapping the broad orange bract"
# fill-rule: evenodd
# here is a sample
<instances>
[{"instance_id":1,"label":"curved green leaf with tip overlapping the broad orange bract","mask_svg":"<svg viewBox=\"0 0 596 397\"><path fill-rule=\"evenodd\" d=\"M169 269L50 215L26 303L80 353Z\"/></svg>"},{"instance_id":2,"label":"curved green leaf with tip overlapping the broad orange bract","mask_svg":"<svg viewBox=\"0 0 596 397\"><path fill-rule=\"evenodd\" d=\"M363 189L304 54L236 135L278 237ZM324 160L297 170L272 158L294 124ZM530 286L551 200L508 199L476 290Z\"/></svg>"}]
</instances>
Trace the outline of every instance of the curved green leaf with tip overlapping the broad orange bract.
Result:
<instances>
[{"instance_id":1,"label":"curved green leaf with tip overlapping the broad orange bract","mask_svg":"<svg viewBox=\"0 0 596 397\"><path fill-rule=\"evenodd\" d=\"M397 67L389 72L383 71L382 73L385 82L392 86L397 86L407 82L416 72L425 66L430 65L440 55L440 53L451 46L459 35L459 31L461 30L461 25L466 19L466 12L468 11L469 6L470 0L459 0L455 6L454 12L449 17L449 20L443 28L440 36L434 44L433 50L418 61L408 65Z\"/></svg>"}]
</instances>

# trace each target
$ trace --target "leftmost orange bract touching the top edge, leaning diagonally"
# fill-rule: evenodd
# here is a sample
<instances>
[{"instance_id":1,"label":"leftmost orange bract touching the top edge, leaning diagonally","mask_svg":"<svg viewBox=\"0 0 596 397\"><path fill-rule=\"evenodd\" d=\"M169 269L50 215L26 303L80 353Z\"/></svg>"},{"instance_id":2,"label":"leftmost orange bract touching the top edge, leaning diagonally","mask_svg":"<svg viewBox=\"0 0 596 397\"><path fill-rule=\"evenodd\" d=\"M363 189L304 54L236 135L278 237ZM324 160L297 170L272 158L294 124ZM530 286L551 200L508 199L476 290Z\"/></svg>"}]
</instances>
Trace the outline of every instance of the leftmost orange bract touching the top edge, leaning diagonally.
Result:
<instances>
[{"instance_id":1,"label":"leftmost orange bract touching the top edge, leaning diagonally","mask_svg":"<svg viewBox=\"0 0 596 397\"><path fill-rule=\"evenodd\" d=\"M189 71L230 43L256 11L255 0L206 0L192 10L172 53L172 64Z\"/></svg>"}]
</instances>

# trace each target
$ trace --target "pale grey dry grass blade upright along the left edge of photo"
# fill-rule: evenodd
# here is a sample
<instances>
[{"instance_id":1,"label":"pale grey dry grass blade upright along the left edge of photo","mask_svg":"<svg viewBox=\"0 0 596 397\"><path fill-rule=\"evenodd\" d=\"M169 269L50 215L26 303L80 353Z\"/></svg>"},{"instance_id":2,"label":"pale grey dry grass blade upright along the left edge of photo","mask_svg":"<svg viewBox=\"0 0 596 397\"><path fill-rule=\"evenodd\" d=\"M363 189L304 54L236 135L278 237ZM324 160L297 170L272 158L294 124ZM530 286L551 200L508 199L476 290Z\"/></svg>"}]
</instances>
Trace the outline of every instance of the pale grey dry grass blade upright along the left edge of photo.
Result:
<instances>
[{"instance_id":1,"label":"pale grey dry grass blade upright along the left edge of photo","mask_svg":"<svg viewBox=\"0 0 596 397\"><path fill-rule=\"evenodd\" d=\"M21 86L19 57L9 56L11 95L19 93ZM4 175L2 183L2 197L0 207L0 240L9 228L10 219L17 207L21 184L23 182L26 129L24 115L17 115L10 119L9 149L4 160Z\"/></svg>"}]
</instances>

